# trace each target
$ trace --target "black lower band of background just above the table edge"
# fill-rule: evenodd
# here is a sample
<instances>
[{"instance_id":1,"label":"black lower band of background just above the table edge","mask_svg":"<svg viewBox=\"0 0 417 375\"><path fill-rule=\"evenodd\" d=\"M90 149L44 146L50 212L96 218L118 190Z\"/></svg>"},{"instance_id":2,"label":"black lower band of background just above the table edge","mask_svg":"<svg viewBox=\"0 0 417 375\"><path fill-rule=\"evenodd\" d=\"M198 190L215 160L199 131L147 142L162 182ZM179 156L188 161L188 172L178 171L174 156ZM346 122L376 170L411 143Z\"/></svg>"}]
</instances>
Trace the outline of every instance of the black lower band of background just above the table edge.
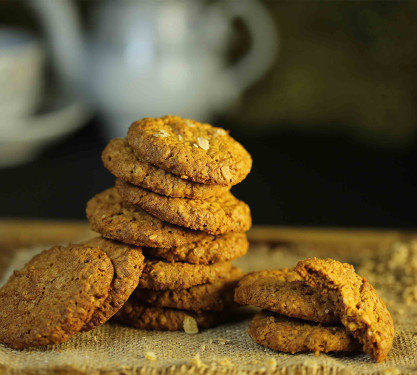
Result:
<instances>
[{"instance_id":1,"label":"black lower band of background just above the table edge","mask_svg":"<svg viewBox=\"0 0 417 375\"><path fill-rule=\"evenodd\" d=\"M221 122L252 154L234 187L255 224L402 227L416 220L417 148L381 151L336 135L248 134ZM0 170L3 217L85 217L85 203L110 187L97 120L22 167Z\"/></svg>"}]
</instances>

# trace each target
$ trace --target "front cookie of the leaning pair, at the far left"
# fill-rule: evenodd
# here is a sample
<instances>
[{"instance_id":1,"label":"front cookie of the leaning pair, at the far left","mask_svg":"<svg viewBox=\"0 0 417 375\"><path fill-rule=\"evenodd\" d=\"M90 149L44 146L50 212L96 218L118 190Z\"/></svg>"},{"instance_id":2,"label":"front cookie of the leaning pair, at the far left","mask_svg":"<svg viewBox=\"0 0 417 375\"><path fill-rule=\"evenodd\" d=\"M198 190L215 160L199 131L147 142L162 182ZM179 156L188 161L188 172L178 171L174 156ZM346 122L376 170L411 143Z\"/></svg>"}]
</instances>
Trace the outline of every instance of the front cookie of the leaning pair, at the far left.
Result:
<instances>
[{"instance_id":1,"label":"front cookie of the leaning pair, at the far left","mask_svg":"<svg viewBox=\"0 0 417 375\"><path fill-rule=\"evenodd\" d=\"M97 247L55 246L36 255L0 289L0 342L22 349L68 340L107 298L113 272Z\"/></svg>"}]
</instances>

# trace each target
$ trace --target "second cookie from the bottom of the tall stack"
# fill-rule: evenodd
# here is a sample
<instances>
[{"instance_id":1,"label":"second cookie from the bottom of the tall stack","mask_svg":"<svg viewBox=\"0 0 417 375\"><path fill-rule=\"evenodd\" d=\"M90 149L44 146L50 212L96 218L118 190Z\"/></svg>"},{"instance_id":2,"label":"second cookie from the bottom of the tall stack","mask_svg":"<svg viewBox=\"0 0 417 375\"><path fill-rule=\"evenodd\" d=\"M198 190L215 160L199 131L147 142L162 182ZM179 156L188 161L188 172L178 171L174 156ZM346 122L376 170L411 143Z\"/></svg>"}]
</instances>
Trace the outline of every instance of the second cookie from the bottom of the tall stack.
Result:
<instances>
[{"instance_id":1,"label":"second cookie from the bottom of the tall stack","mask_svg":"<svg viewBox=\"0 0 417 375\"><path fill-rule=\"evenodd\" d=\"M133 298L138 304L168 307L196 312L222 311L233 304L233 290L243 276L242 271L232 267L222 279L209 284L192 286L188 289L152 290L136 289Z\"/></svg>"}]
</instances>

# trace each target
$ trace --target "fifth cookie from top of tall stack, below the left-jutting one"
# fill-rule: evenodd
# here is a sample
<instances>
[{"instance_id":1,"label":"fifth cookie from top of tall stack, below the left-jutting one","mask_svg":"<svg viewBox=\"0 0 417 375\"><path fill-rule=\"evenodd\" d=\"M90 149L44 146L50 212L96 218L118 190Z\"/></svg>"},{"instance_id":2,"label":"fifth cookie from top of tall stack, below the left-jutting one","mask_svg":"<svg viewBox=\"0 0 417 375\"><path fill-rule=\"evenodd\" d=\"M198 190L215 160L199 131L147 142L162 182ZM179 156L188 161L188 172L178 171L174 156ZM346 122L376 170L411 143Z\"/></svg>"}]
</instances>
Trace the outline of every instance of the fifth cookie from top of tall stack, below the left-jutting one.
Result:
<instances>
[{"instance_id":1,"label":"fifth cookie from top of tall stack, below the left-jutting one","mask_svg":"<svg viewBox=\"0 0 417 375\"><path fill-rule=\"evenodd\" d=\"M226 233L171 248L144 247L142 251L145 255L170 262L211 264L239 258L246 254L248 248L249 242L244 233Z\"/></svg>"}]
</instances>

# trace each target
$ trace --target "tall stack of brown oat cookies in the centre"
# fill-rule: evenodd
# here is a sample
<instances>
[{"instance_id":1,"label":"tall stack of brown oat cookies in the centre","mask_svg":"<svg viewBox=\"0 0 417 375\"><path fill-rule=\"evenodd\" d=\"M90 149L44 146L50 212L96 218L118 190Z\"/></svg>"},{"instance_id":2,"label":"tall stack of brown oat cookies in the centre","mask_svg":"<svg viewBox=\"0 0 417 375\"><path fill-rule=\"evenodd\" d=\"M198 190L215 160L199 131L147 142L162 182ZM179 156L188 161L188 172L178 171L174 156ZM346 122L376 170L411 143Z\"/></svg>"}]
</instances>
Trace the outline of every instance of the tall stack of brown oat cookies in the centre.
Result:
<instances>
[{"instance_id":1,"label":"tall stack of brown oat cookies in the centre","mask_svg":"<svg viewBox=\"0 0 417 375\"><path fill-rule=\"evenodd\" d=\"M249 173L249 153L221 128L165 116L133 123L102 159L117 180L88 202L91 228L146 256L117 320L189 332L222 321L242 276L230 261L248 249L250 210L229 190Z\"/></svg>"}]
</instances>

